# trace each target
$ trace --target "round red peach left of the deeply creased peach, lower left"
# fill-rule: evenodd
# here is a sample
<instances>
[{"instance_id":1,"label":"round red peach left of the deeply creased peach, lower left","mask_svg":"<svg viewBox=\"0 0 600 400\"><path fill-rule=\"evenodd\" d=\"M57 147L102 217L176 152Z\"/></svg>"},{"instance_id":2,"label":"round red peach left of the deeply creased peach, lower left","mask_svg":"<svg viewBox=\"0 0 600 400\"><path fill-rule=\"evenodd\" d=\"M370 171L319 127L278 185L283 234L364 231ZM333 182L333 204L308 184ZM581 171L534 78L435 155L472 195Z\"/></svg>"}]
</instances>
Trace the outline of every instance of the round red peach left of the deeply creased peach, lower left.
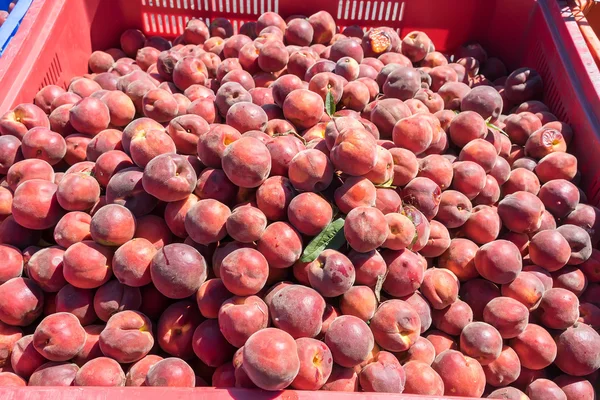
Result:
<instances>
[{"instance_id":1,"label":"round red peach left of the deeply creased peach, lower left","mask_svg":"<svg viewBox=\"0 0 600 400\"><path fill-rule=\"evenodd\" d=\"M81 351L86 333L77 317L59 312L44 318L33 334L33 347L50 361L67 361Z\"/></svg>"}]
</instances>

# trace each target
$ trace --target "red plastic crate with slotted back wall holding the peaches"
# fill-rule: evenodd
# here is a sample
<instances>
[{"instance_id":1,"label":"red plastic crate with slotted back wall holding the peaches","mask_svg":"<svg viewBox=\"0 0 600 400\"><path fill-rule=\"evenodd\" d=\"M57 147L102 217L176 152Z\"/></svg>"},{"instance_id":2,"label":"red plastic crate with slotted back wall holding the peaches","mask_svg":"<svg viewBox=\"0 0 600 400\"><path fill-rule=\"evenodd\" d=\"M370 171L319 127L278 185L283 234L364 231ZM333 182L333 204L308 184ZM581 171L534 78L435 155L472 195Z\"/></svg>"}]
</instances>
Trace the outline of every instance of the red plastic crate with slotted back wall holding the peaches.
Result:
<instances>
[{"instance_id":1,"label":"red plastic crate with slotted back wall holding the peaches","mask_svg":"<svg viewBox=\"0 0 600 400\"><path fill-rule=\"evenodd\" d=\"M572 151L579 160L582 187L589 202L600 205L600 72L564 1L34 0L23 20L24 28L0 59L0 112L31 102L46 85L66 87L73 76L87 72L93 50L117 46L127 28L174 38L191 18L208 22L226 17L237 30L265 11L287 17L319 10L330 12L340 28L353 24L391 26L401 37L421 30L443 52L478 41L510 69L535 68L544 79L544 102L575 131ZM0 388L2 400L324 399L331 395L214 388ZM373 393L334 395L342 400L442 399Z\"/></svg>"}]
</instances>

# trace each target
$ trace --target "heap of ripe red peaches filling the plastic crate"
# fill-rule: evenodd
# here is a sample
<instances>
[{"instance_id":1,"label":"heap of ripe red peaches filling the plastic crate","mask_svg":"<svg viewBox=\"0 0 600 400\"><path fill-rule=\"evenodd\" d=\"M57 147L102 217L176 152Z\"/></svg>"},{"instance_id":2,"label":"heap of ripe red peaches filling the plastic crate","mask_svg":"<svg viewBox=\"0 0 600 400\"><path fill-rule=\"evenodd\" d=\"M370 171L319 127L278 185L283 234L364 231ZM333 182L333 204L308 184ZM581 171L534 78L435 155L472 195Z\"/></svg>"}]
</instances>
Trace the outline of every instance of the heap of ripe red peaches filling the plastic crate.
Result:
<instances>
[{"instance_id":1,"label":"heap of ripe red peaches filling the plastic crate","mask_svg":"<svg viewBox=\"0 0 600 400\"><path fill-rule=\"evenodd\" d=\"M593 399L600 209L542 77L265 13L0 119L0 386Z\"/></svg>"}]
</instances>

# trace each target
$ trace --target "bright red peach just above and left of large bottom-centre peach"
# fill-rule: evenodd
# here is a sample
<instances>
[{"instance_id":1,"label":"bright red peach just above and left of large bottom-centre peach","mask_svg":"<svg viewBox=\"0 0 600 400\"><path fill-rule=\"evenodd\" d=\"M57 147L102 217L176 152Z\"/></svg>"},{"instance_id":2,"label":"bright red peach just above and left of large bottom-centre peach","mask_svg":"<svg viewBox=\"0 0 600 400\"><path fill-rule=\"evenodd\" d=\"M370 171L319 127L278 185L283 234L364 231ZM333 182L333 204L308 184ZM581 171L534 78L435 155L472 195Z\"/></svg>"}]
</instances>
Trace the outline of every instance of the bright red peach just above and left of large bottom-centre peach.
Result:
<instances>
[{"instance_id":1,"label":"bright red peach just above and left of large bottom-centre peach","mask_svg":"<svg viewBox=\"0 0 600 400\"><path fill-rule=\"evenodd\" d=\"M257 296L232 297L219 310L219 328L235 347L245 347L250 336L267 328L267 305Z\"/></svg>"}]
</instances>

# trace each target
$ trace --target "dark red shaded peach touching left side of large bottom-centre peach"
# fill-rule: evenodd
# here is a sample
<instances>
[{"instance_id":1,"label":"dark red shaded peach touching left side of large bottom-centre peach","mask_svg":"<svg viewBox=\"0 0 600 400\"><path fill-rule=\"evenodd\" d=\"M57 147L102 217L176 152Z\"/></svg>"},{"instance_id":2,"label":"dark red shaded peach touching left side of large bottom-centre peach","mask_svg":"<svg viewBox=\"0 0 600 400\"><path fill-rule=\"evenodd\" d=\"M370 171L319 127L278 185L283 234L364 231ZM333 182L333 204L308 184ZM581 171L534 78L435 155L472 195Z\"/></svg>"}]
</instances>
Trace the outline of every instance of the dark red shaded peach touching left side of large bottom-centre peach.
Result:
<instances>
[{"instance_id":1,"label":"dark red shaded peach touching left side of large bottom-centre peach","mask_svg":"<svg viewBox=\"0 0 600 400\"><path fill-rule=\"evenodd\" d=\"M210 367L220 366L231 359L233 347L219 330L216 319L208 319L196 328L192 339L196 356Z\"/></svg>"}]
</instances>

